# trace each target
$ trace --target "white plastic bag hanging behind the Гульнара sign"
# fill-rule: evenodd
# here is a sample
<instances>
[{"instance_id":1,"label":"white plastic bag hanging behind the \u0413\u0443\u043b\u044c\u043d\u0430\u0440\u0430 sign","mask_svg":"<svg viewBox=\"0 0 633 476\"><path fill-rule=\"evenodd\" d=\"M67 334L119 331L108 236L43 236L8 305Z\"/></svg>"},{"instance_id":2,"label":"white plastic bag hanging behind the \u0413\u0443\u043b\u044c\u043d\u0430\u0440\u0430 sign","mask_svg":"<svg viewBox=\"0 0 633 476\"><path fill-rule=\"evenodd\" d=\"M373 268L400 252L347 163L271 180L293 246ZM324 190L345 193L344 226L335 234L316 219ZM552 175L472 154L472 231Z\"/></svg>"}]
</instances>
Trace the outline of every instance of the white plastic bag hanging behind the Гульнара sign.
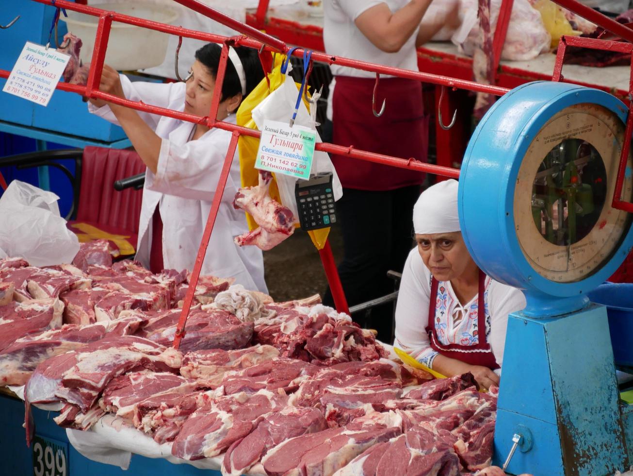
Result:
<instances>
[{"instance_id":1,"label":"white plastic bag hanging behind the \u0413\u0443\u043b\u044c\u043d\u0430\u0440\u0430 sign","mask_svg":"<svg viewBox=\"0 0 633 476\"><path fill-rule=\"evenodd\" d=\"M290 70L291 66L288 65L288 72L290 72ZM294 112L294 106L297 103L298 94L299 91L294 80L289 75L286 75L284 84L275 89L270 96L253 108L253 120L257 128L261 131L266 119L289 122ZM315 129L314 120L310 118L310 113L308 113L303 101L301 101L299 105L299 112L294 120L294 124ZM316 132L316 142L323 142L318 132ZM339 176L336 170L334 170L330 156L323 151L315 150L310 174L319 174L321 172L332 172L334 200L339 200L339 198L343 196L343 188ZM296 199L294 198L294 184L297 179L284 174L275 174L275 178L277 179L277 187L279 188L282 203L292 210L294 216L298 217L299 210L297 208Z\"/></svg>"}]
</instances>

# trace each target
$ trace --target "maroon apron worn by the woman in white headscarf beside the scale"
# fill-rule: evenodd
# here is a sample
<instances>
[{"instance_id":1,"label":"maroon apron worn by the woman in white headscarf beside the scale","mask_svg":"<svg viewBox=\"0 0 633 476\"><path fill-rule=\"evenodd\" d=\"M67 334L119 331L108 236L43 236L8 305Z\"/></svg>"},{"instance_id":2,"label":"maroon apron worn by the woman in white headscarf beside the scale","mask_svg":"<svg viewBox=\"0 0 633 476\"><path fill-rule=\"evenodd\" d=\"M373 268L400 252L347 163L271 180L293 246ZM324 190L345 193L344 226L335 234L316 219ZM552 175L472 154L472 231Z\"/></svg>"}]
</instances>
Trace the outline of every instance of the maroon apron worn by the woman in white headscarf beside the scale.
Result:
<instances>
[{"instance_id":1,"label":"maroon apron worn by the woman in white headscarf beside the scale","mask_svg":"<svg viewBox=\"0 0 633 476\"><path fill-rule=\"evenodd\" d=\"M496 359L492 353L490 344L486 340L486 304L484 303L484 293L486 292L486 274L479 271L479 293L477 295L477 337L479 342L475 345L448 344L443 345L437 339L435 326L437 286L436 278L431 278L431 299L429 302L429 325L426 328L429 334L431 348L442 354L470 365L480 365L491 370L498 369ZM460 352L479 351L479 352Z\"/></svg>"}]
</instances>

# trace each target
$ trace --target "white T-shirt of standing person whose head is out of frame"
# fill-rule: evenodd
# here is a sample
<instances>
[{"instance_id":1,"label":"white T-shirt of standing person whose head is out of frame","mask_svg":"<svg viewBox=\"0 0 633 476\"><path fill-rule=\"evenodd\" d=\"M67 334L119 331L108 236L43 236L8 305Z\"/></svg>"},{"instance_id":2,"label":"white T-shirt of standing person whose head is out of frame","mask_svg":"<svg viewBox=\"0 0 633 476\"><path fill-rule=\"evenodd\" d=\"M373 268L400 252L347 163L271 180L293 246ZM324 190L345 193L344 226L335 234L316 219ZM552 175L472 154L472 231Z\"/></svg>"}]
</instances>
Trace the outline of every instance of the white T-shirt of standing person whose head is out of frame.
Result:
<instances>
[{"instance_id":1,"label":"white T-shirt of standing person whose head is out of frame","mask_svg":"<svg viewBox=\"0 0 633 476\"><path fill-rule=\"evenodd\" d=\"M328 55L343 56L353 60L371 61L379 65L418 70L415 51L417 31L404 43L397 53L385 53L375 46L356 27L354 21L372 6L386 3L392 12L398 11L410 0L324 0L323 42ZM375 73L331 65L334 76L376 77ZM389 77L389 75L382 75ZM332 94L330 93L330 97Z\"/></svg>"}]
</instances>

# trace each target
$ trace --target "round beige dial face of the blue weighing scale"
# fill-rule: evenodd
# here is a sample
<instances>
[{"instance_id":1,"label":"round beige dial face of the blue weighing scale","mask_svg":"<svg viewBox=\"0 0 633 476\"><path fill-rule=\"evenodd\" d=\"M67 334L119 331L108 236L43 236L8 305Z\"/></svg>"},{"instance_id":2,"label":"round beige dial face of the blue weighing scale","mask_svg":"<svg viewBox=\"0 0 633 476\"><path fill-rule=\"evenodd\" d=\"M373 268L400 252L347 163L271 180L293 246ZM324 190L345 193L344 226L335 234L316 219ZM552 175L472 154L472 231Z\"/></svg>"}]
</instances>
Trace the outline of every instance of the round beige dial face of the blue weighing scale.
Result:
<instances>
[{"instance_id":1,"label":"round beige dial face of the blue weighing scale","mask_svg":"<svg viewBox=\"0 0 633 476\"><path fill-rule=\"evenodd\" d=\"M530 266L572 283L601 269L630 227L613 209L624 124L607 108L577 104L546 122L523 157L514 188L514 224ZM631 155L622 200L633 191Z\"/></svg>"}]
</instances>

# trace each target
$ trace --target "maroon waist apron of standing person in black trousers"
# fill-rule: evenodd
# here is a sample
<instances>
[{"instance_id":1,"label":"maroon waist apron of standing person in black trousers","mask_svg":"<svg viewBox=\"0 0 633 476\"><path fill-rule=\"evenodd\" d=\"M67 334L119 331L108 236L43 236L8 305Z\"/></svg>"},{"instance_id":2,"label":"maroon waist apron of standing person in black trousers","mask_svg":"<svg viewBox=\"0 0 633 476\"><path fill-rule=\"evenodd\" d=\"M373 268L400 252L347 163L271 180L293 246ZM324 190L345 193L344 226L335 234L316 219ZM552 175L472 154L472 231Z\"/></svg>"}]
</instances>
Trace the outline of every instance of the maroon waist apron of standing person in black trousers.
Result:
<instances>
[{"instance_id":1,"label":"maroon waist apron of standing person in black trousers","mask_svg":"<svg viewBox=\"0 0 633 476\"><path fill-rule=\"evenodd\" d=\"M422 87L412 79L380 79L376 110L386 100L380 117L372 113L375 79L337 76L332 98L332 142L345 147L414 158L427 162L429 117L424 115ZM374 164L346 155L332 155L344 188L387 191L419 185L424 173Z\"/></svg>"}]
</instances>

